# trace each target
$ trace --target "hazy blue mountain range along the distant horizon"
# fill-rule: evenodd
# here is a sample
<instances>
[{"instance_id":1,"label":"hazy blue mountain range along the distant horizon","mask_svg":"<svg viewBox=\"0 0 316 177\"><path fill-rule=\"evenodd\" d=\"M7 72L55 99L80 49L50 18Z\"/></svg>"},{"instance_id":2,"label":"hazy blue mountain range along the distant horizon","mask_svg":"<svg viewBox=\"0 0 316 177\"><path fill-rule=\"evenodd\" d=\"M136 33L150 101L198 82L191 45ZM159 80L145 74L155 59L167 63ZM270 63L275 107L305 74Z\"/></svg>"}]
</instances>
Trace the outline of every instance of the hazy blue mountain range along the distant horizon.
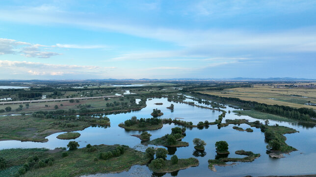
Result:
<instances>
[{"instance_id":1,"label":"hazy blue mountain range along the distant horizon","mask_svg":"<svg viewBox=\"0 0 316 177\"><path fill-rule=\"evenodd\" d=\"M236 78L206 78L206 79L198 79L198 78L178 78L178 79L89 79L89 80L77 80L77 79L69 79L69 80L0 80L2 82L159 82L159 81L265 81L265 82L285 82L285 81L316 81L316 79L306 79L306 78L290 78L290 77L276 77L276 78L244 78L244 77L236 77Z\"/></svg>"}]
</instances>

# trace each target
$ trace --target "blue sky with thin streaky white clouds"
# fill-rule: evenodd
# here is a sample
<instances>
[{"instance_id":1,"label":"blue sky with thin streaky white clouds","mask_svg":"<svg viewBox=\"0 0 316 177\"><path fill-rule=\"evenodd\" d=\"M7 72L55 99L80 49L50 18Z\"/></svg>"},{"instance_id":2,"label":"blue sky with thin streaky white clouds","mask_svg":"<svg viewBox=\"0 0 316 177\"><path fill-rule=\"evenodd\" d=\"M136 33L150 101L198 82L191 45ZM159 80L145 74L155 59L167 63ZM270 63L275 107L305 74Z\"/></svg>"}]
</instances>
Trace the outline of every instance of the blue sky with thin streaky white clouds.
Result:
<instances>
[{"instance_id":1,"label":"blue sky with thin streaky white clouds","mask_svg":"<svg viewBox=\"0 0 316 177\"><path fill-rule=\"evenodd\" d=\"M0 1L0 79L235 77L316 79L316 1Z\"/></svg>"}]
</instances>

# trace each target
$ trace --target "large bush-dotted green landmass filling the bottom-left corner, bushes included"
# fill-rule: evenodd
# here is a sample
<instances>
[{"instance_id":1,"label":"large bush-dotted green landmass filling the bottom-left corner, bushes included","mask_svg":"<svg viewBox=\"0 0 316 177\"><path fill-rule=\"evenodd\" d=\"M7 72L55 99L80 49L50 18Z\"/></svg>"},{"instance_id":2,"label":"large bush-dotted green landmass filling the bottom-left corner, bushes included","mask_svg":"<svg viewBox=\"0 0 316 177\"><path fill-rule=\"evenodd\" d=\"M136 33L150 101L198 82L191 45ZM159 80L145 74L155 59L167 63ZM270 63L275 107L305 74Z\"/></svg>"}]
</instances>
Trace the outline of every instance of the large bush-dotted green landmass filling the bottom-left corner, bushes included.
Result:
<instances>
[{"instance_id":1,"label":"large bush-dotted green landmass filling the bottom-left corner, bushes included","mask_svg":"<svg viewBox=\"0 0 316 177\"><path fill-rule=\"evenodd\" d=\"M119 145L87 145L78 148L77 142L65 148L49 150L45 148L16 148L0 150L5 159L1 173L19 177L77 177L96 173L119 173L133 165L143 165L150 161L141 151ZM84 159L84 160L83 160ZM6 176L6 175L4 175Z\"/></svg>"}]
</instances>

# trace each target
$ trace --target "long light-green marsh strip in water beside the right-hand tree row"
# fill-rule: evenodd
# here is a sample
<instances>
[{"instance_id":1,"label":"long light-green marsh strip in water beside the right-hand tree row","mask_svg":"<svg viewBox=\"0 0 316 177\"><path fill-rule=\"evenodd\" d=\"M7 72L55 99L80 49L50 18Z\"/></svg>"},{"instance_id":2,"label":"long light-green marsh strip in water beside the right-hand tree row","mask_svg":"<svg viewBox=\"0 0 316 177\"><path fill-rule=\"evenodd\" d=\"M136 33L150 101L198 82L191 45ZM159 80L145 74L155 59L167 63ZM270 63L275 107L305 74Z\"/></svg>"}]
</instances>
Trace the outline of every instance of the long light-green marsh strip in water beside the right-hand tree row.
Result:
<instances>
[{"instance_id":1,"label":"long light-green marsh strip in water beside the right-hand tree row","mask_svg":"<svg viewBox=\"0 0 316 177\"><path fill-rule=\"evenodd\" d=\"M237 115L242 115L242 116L249 116L252 118L258 118L258 119L271 119L271 120L278 120L278 121L286 121L286 122L297 122L294 119L290 119L290 118L285 118L285 117L281 117L281 116L277 116L277 115L273 115L273 114L268 114L268 113L262 113L256 110L242 110L242 111L233 111L234 113L237 113Z\"/></svg>"}]
</instances>

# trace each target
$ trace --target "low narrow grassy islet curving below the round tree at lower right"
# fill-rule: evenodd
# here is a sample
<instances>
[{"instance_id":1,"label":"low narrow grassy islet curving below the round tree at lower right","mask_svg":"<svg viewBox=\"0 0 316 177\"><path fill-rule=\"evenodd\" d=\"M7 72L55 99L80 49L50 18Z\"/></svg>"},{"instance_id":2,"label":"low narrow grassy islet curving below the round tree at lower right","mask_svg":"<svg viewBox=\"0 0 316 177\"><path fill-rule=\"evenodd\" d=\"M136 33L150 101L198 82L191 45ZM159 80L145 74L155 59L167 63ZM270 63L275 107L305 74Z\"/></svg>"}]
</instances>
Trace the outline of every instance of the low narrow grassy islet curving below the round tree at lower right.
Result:
<instances>
[{"instance_id":1,"label":"low narrow grassy islet curving below the round tree at lower right","mask_svg":"<svg viewBox=\"0 0 316 177\"><path fill-rule=\"evenodd\" d=\"M255 154L252 151L237 150L235 153L238 154L238 155L247 155L247 156L244 157L244 158L228 158L228 157L225 157L225 158L219 158L219 159L210 159L209 160L209 168L212 171L216 172L216 169L214 167L215 165L217 165L217 166L235 165L235 163L227 164L226 162L251 162L251 161L255 160L256 158L260 157L259 153Z\"/></svg>"}]
</instances>

